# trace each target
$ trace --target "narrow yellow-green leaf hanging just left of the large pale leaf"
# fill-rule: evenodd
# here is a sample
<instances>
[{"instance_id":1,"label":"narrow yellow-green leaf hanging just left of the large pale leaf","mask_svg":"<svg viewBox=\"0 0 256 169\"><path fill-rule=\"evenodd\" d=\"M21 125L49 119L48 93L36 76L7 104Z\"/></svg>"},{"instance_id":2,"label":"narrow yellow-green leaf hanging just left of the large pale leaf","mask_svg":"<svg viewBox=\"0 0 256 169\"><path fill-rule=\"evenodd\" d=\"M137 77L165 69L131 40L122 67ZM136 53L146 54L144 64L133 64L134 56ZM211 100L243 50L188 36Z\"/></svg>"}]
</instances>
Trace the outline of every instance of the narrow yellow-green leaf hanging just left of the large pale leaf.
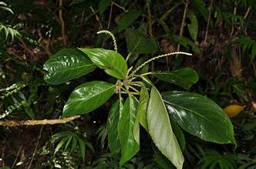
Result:
<instances>
[{"instance_id":1,"label":"narrow yellow-green leaf hanging just left of the large pale leaf","mask_svg":"<svg viewBox=\"0 0 256 169\"><path fill-rule=\"evenodd\" d=\"M137 116L139 116L140 124L143 126L143 128L147 129L147 104L149 102L149 93L147 91L147 87L145 85L141 85L140 90L140 101L137 108Z\"/></svg>"}]
</instances>

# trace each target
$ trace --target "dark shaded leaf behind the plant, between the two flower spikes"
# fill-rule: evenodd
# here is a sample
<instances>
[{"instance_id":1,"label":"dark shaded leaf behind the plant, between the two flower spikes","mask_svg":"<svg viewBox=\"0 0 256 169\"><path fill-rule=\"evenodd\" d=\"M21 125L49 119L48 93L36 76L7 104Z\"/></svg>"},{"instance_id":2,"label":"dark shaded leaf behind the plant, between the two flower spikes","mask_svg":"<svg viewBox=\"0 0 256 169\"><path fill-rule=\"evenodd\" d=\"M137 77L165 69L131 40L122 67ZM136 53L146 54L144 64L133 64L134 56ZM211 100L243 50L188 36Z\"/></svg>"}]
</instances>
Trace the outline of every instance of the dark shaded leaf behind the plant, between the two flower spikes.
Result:
<instances>
[{"instance_id":1,"label":"dark shaded leaf behind the plant, between the two flower spikes","mask_svg":"<svg viewBox=\"0 0 256 169\"><path fill-rule=\"evenodd\" d=\"M149 38L147 35L132 28L125 32L128 51L131 54L153 54L157 52L157 42L155 38Z\"/></svg>"}]
</instances>

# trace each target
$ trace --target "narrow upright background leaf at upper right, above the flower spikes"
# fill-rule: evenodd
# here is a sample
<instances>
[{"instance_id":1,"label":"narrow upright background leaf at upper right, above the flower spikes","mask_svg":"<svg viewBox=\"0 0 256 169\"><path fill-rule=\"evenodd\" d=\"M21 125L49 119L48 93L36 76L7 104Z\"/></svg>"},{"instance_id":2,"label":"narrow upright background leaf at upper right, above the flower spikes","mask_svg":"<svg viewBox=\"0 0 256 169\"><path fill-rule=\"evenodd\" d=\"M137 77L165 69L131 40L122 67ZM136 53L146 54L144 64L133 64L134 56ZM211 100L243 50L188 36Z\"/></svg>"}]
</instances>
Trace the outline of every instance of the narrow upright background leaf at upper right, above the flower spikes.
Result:
<instances>
[{"instance_id":1,"label":"narrow upright background leaf at upper right, above the flower spikes","mask_svg":"<svg viewBox=\"0 0 256 169\"><path fill-rule=\"evenodd\" d=\"M197 33L198 33L198 23L197 23L197 16L194 15L194 12L188 11L187 12L188 18L190 18L190 24L187 25L188 31L190 32L191 38L194 41L197 41Z\"/></svg>"}]
</instances>

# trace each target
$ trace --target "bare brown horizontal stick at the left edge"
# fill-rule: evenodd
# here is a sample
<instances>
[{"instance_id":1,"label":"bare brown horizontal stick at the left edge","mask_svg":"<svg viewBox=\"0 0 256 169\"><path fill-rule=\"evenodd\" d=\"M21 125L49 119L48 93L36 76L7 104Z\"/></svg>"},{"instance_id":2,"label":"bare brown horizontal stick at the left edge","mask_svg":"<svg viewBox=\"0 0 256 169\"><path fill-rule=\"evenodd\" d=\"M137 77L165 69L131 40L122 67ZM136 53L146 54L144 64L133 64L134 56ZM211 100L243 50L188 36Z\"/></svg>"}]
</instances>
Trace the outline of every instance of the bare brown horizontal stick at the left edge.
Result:
<instances>
[{"instance_id":1,"label":"bare brown horizontal stick at the left edge","mask_svg":"<svg viewBox=\"0 0 256 169\"><path fill-rule=\"evenodd\" d=\"M79 115L75 115L69 118L61 118L61 119L44 119L44 120L28 120L28 121L0 121L0 126L5 127L16 127L23 125L45 125L45 124L62 124L67 123L69 121L73 121L76 118L80 118Z\"/></svg>"}]
</instances>

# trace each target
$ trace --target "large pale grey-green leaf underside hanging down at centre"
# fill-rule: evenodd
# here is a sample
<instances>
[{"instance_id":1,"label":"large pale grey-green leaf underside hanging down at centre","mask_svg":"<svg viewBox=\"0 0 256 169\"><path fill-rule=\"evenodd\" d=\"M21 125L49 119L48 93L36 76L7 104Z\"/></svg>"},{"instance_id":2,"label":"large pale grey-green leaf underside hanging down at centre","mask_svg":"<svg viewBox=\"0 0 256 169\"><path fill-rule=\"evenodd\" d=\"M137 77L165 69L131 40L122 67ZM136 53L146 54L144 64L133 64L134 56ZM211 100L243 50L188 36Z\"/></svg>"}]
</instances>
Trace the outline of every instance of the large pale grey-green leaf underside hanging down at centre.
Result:
<instances>
[{"instance_id":1,"label":"large pale grey-green leaf underside hanging down at centre","mask_svg":"<svg viewBox=\"0 0 256 169\"><path fill-rule=\"evenodd\" d=\"M181 169L184 163L184 156L173 134L163 99L155 87L150 92L150 102L147 108L147 124L149 134L158 149L175 167Z\"/></svg>"}]
</instances>

